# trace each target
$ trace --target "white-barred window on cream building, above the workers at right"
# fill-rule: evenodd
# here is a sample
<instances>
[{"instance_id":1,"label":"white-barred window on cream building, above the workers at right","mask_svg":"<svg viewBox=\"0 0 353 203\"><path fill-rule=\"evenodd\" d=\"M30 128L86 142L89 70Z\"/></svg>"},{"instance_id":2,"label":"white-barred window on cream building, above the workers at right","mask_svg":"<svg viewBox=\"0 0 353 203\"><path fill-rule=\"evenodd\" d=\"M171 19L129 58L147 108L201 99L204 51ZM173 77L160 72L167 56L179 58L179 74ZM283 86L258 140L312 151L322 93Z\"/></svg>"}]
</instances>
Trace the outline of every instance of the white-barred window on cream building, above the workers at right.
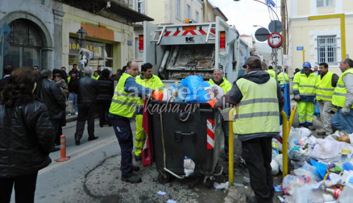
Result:
<instances>
[{"instance_id":1,"label":"white-barred window on cream building, above the workers at right","mask_svg":"<svg viewBox=\"0 0 353 203\"><path fill-rule=\"evenodd\" d=\"M318 36L318 63L337 63L336 36Z\"/></svg>"}]
</instances>

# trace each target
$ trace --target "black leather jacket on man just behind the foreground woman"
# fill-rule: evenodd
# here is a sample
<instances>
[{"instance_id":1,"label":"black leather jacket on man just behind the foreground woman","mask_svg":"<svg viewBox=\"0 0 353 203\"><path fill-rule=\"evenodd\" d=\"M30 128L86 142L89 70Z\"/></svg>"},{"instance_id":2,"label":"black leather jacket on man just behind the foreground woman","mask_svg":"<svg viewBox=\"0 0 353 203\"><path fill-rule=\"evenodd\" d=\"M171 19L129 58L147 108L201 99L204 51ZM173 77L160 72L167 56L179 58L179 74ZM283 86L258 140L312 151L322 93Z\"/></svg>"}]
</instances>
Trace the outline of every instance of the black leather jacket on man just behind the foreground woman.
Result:
<instances>
[{"instance_id":1,"label":"black leather jacket on man just behind the foreground woman","mask_svg":"<svg viewBox=\"0 0 353 203\"><path fill-rule=\"evenodd\" d=\"M55 82L45 78L42 79L37 87L36 94L46 105L50 119L65 118L66 99Z\"/></svg>"}]
</instances>

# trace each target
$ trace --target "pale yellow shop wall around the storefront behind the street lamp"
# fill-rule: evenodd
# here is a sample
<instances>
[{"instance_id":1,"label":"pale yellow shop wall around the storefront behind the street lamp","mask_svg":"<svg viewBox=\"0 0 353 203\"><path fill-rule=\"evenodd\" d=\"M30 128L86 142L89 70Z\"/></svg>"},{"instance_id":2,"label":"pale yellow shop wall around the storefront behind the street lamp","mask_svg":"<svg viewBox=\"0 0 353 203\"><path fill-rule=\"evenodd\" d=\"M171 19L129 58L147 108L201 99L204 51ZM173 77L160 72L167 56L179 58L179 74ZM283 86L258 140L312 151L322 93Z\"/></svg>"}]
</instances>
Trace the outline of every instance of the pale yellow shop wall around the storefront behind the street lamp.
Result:
<instances>
[{"instance_id":1,"label":"pale yellow shop wall around the storefront behind the street lamp","mask_svg":"<svg viewBox=\"0 0 353 203\"><path fill-rule=\"evenodd\" d=\"M112 21L89 12L79 10L63 4L63 54L62 65L69 67L69 38L77 37L76 32L80 27L91 30L87 32L87 40L104 42L113 45L113 73L121 69L133 56L133 47L127 45L127 41L133 42L134 28L132 26ZM97 29L94 29L94 28ZM96 32L92 33L92 30ZM101 31L108 33L102 35ZM93 67L94 69L95 67Z\"/></svg>"}]
</instances>

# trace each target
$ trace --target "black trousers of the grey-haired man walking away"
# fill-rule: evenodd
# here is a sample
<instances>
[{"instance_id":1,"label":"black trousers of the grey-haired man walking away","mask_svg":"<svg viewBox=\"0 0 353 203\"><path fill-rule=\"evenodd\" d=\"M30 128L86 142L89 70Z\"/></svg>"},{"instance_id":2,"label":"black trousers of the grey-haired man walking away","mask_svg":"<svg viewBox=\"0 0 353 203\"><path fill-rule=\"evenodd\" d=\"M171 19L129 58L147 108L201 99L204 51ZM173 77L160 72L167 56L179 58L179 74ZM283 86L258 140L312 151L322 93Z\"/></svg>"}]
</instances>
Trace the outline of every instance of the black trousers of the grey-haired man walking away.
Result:
<instances>
[{"instance_id":1,"label":"black trousers of the grey-haired man walking away","mask_svg":"<svg viewBox=\"0 0 353 203\"><path fill-rule=\"evenodd\" d=\"M94 116L96 114L96 104L79 104L79 115L77 116L75 139L82 138L87 120L88 137L94 137Z\"/></svg>"}]
</instances>

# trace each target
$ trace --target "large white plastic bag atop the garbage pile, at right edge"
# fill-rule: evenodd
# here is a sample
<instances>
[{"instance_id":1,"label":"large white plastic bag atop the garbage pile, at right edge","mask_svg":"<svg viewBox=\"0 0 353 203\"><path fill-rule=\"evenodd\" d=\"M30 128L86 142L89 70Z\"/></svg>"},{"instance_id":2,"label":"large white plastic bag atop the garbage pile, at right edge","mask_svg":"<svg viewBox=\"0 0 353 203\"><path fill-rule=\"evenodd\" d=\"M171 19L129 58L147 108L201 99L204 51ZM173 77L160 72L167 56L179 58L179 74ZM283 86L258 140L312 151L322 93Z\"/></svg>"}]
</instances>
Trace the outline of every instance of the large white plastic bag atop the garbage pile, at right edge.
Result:
<instances>
[{"instance_id":1,"label":"large white plastic bag atop the garbage pile, at right edge","mask_svg":"<svg viewBox=\"0 0 353 203\"><path fill-rule=\"evenodd\" d=\"M348 143L317 139L313 145L312 151L309 152L309 156L319 161L338 162L340 159L339 152L341 152L341 148L353 151L353 147Z\"/></svg>"}]
</instances>

